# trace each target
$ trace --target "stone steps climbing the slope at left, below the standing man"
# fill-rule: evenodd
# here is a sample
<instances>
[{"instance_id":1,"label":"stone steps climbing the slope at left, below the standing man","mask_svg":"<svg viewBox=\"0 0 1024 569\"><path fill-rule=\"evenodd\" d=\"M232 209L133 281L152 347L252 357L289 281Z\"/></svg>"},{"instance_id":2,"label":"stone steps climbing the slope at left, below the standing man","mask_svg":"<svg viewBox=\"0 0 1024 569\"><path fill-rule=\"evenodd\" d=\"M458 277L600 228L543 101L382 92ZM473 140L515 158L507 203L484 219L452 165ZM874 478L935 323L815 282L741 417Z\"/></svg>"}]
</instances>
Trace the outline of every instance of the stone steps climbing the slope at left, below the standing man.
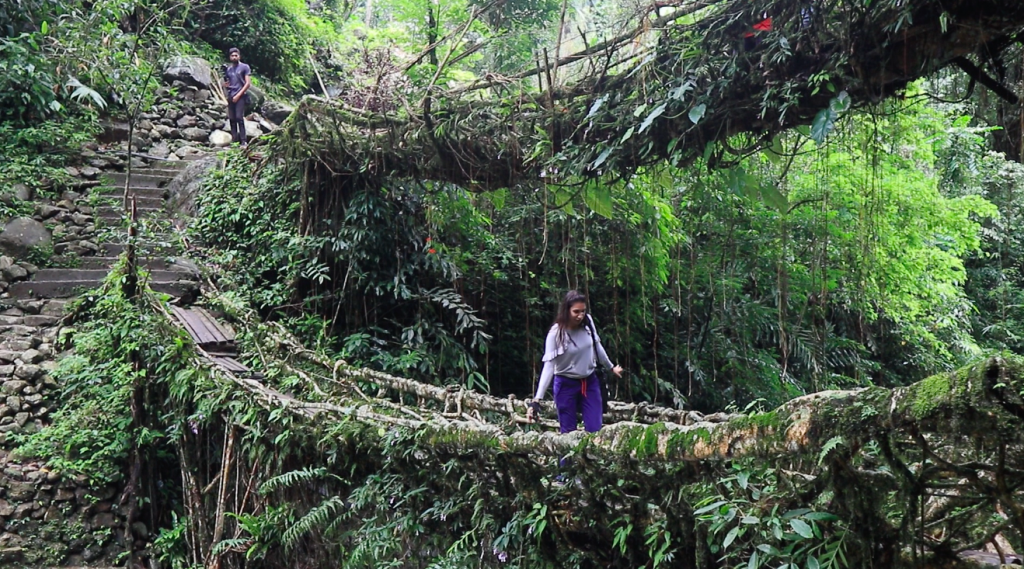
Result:
<instances>
[{"instance_id":1,"label":"stone steps climbing the slope at left, below the standing man","mask_svg":"<svg viewBox=\"0 0 1024 569\"><path fill-rule=\"evenodd\" d=\"M129 195L135 198L137 219L148 218L156 226L166 223L165 202L167 185L190 161L161 162L148 168L135 168L128 184ZM83 291L98 287L110 269L117 263L127 240L126 214L122 206L125 173L105 174L103 185L90 192L90 199L98 204L91 209L97 228L115 229L106 233L108 243L98 244L92 256L57 258L66 268L47 268L36 272L31 280L11 284L8 293L11 299L54 299L78 296ZM120 230L117 230L120 229ZM174 259L175 248L167 229L152 233L143 231L137 243L139 264L150 273L150 287L158 292L174 297L193 297L198 293L198 275L187 264Z\"/></svg>"}]
</instances>

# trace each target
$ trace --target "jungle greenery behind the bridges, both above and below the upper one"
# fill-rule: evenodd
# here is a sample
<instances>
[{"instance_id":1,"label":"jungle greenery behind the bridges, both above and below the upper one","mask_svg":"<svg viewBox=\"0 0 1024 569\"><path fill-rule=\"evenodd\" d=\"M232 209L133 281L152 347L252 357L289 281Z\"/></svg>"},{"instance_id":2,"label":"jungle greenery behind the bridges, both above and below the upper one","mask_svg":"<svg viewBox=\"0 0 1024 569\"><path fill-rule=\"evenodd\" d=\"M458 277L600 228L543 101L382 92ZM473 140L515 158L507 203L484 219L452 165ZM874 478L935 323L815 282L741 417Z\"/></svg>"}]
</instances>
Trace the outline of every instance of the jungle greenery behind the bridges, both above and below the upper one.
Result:
<instances>
[{"instance_id":1,"label":"jungle greenery behind the bridges, both above and below the upper one","mask_svg":"<svg viewBox=\"0 0 1024 569\"><path fill-rule=\"evenodd\" d=\"M273 93L319 92L318 73L336 97L376 110L427 83L525 69L538 45L612 35L640 8L502 3L470 21L474 9L8 3L3 174L58 177L48 168L98 117L145 104L162 56L221 62L238 46ZM453 32L459 60L438 68L451 48L427 47ZM1000 64L1015 80L1017 58ZM623 121L643 136L651 108L636 111ZM949 70L845 114L827 140L787 132L731 168L485 192L398 179L351 195L330 235L300 232L294 173L271 163L254 177L240 163L210 184L196 233L267 317L375 368L528 394L557 300L580 289L628 369L617 399L775 405L1021 349L1019 119Z\"/></svg>"}]
</instances>

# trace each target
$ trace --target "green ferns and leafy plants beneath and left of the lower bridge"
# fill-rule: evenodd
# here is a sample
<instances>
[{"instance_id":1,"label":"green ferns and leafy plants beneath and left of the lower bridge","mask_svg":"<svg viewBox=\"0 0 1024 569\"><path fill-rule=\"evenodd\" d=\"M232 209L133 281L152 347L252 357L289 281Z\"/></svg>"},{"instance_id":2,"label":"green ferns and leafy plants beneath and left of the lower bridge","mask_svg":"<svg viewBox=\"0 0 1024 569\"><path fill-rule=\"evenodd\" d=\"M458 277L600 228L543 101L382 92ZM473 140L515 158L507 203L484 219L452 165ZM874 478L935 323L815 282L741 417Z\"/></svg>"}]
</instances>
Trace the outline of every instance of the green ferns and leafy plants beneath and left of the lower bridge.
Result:
<instances>
[{"instance_id":1,"label":"green ferns and leafy plants beneath and left of the lower bridge","mask_svg":"<svg viewBox=\"0 0 1024 569\"><path fill-rule=\"evenodd\" d=\"M159 521L155 553L168 567L210 556L222 566L398 567L416 552L432 568L846 568L908 538L898 528L914 510L884 473L920 458L893 451L891 435L837 436L816 455L644 459L660 452L669 427L658 424L633 431L620 457L589 451L584 437L559 459L471 424L357 419L368 408L408 420L386 402L415 401L366 399L238 293L215 296L207 308L237 326L240 358L262 374L247 384L199 359L159 296L126 297L130 282L121 266L73 311L75 355L56 374L63 406L18 452L94 484L126 482L132 465L153 473L137 497ZM306 417L263 388L341 411ZM777 413L740 426L768 444ZM669 451L715 441L693 429L669 437Z\"/></svg>"}]
</instances>

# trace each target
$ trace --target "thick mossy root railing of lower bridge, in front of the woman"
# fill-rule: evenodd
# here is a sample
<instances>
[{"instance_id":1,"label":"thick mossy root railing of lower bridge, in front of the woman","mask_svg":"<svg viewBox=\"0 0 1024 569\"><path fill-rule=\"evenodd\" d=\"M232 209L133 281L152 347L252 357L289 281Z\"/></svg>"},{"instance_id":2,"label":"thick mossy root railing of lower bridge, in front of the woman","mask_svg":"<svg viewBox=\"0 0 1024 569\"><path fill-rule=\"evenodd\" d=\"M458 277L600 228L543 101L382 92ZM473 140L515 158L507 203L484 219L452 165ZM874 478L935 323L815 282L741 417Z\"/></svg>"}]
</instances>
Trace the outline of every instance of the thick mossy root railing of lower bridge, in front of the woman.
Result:
<instances>
[{"instance_id":1,"label":"thick mossy root railing of lower bridge, in front of the woman","mask_svg":"<svg viewBox=\"0 0 1024 569\"><path fill-rule=\"evenodd\" d=\"M373 371L360 374L352 369L344 376L346 381L378 385L381 381ZM604 459L633 457L671 463L787 454L816 456L836 437L842 437L846 446L858 448L868 440L887 436L922 442L927 442L929 436L970 438L991 448L1001 446L1015 453L1024 450L1024 400L1020 396L1024 391L1024 360L1013 356L991 357L906 388L815 393L772 411L733 415L724 422L644 425L612 419L596 434L508 433L507 425L482 421L437 415L433 420L412 419L425 414L420 408L396 415L394 409L400 406L388 404L381 408L366 400L306 404L283 395L268 396L270 391L257 382L242 381L239 385L267 403L276 399L285 407L303 409L312 421L324 421L323 413L337 413L374 425L408 428L415 430L422 442L455 453L494 451L557 457L584 451ZM423 391L414 389L416 386L400 387L407 392ZM1024 454L1015 457L1021 459Z\"/></svg>"}]
</instances>

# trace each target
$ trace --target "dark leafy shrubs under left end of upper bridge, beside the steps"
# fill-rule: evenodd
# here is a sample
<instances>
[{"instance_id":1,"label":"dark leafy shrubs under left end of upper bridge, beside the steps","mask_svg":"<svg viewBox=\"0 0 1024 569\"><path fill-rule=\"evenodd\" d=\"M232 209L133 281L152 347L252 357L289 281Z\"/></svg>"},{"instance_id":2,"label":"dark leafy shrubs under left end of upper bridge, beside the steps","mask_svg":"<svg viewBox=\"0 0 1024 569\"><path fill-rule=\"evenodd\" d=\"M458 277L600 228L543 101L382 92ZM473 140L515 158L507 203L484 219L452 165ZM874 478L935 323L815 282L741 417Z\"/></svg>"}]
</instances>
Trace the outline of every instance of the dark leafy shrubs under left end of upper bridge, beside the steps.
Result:
<instances>
[{"instance_id":1,"label":"dark leafy shrubs under left end of upper bridge, beside the steps","mask_svg":"<svg viewBox=\"0 0 1024 569\"><path fill-rule=\"evenodd\" d=\"M416 223L421 205L408 187L358 192L330 232L298 235L298 188L288 172L251 176L232 159L206 180L193 226L245 298L354 363L487 389L474 359L489 339L484 322L455 292L459 268ZM339 299L346 310L335 310Z\"/></svg>"}]
</instances>

